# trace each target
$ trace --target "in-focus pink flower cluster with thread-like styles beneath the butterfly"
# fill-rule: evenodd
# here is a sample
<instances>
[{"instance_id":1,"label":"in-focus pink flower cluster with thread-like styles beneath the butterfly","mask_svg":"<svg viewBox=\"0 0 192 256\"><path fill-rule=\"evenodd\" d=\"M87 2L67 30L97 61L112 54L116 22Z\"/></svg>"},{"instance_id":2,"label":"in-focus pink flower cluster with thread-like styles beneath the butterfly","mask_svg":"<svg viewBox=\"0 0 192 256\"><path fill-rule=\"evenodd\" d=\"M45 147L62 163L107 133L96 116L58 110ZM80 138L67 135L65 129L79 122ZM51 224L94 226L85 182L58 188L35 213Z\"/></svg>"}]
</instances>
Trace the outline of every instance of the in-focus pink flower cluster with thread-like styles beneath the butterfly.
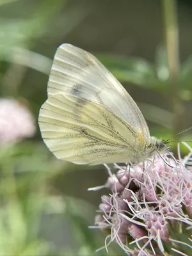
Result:
<instances>
[{"instance_id":1,"label":"in-focus pink flower cluster with thread-like styles beneath the butterfly","mask_svg":"<svg viewBox=\"0 0 192 256\"><path fill-rule=\"evenodd\" d=\"M136 166L114 164L95 225L128 255L192 255L192 172L169 154ZM98 187L101 188L101 187ZM90 190L97 190L92 188Z\"/></svg>"}]
</instances>

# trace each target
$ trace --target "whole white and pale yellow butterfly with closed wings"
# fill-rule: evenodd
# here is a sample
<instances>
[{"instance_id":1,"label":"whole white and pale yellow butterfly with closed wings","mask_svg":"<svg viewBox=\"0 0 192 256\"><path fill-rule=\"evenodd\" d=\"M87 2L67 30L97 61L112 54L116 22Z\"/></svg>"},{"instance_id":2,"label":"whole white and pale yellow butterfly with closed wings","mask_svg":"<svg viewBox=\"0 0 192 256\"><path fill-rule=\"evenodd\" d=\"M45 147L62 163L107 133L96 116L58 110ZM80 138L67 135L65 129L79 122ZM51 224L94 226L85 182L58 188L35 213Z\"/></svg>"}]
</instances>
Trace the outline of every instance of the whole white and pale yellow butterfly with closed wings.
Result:
<instances>
[{"instance_id":1,"label":"whole white and pale yellow butterfly with closed wings","mask_svg":"<svg viewBox=\"0 0 192 256\"><path fill-rule=\"evenodd\" d=\"M47 147L76 164L140 163L168 143L150 137L140 109L89 52L70 44L56 51L38 122Z\"/></svg>"}]
</instances>

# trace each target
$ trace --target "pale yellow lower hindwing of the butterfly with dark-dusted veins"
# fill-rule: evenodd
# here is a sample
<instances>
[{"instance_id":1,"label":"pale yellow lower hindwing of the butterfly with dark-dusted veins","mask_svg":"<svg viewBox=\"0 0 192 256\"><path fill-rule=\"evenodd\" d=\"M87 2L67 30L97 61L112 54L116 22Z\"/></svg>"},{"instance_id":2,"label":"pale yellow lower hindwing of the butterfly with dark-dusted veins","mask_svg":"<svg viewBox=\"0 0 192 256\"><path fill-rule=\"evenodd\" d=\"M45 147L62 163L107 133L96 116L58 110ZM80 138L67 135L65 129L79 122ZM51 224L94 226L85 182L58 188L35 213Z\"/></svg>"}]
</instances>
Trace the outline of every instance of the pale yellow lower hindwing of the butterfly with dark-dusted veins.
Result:
<instances>
[{"instance_id":1,"label":"pale yellow lower hindwing of the butterfly with dark-dusted veins","mask_svg":"<svg viewBox=\"0 0 192 256\"><path fill-rule=\"evenodd\" d=\"M130 162L145 145L143 137L120 116L67 93L48 97L38 120L52 153L76 164Z\"/></svg>"}]
</instances>

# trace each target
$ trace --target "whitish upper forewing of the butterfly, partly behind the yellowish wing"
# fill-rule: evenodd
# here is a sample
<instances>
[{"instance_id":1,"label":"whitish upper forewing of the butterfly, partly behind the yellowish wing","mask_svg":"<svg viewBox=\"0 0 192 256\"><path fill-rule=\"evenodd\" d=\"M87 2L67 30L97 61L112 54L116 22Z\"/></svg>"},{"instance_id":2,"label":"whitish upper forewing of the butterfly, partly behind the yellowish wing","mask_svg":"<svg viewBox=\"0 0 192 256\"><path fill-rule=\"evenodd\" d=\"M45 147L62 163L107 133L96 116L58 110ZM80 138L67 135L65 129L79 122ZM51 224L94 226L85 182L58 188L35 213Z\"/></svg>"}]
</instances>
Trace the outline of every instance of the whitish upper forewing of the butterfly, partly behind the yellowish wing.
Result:
<instances>
[{"instance_id":1,"label":"whitish upper forewing of the butterfly, partly behind the yellowish wing","mask_svg":"<svg viewBox=\"0 0 192 256\"><path fill-rule=\"evenodd\" d=\"M120 116L143 136L150 134L140 109L116 78L89 52L74 45L61 45L54 56L49 77L48 97L68 93L101 104Z\"/></svg>"}]
</instances>

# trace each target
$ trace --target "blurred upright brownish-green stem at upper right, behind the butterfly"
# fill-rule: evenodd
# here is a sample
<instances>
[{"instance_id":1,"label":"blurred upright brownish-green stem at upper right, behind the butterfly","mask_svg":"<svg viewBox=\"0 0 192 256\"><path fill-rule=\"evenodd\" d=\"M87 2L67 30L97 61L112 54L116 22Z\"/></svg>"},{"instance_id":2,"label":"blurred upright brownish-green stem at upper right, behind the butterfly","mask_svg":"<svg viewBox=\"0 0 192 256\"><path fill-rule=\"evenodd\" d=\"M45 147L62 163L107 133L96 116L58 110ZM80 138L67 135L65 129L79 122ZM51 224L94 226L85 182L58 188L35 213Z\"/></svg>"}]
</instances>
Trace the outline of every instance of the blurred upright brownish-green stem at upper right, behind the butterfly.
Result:
<instances>
[{"instance_id":1,"label":"blurred upright brownish-green stem at upper right, behind the butterfly","mask_svg":"<svg viewBox=\"0 0 192 256\"><path fill-rule=\"evenodd\" d=\"M175 0L163 0L164 29L168 68L170 72L170 98L172 111L176 118L173 123L175 134L181 130L180 117L183 113L182 102L179 97L179 28L177 23L177 4Z\"/></svg>"}]
</instances>

